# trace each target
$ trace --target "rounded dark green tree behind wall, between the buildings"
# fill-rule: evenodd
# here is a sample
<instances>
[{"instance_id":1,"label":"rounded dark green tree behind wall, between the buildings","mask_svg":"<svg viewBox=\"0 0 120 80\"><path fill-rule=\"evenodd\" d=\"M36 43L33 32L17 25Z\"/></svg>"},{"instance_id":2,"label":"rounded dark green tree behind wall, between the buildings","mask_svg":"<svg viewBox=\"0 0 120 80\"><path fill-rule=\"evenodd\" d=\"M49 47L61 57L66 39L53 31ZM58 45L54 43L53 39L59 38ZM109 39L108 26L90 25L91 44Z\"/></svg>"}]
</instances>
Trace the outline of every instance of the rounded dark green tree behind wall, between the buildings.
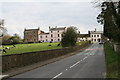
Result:
<instances>
[{"instance_id":1,"label":"rounded dark green tree behind wall, between the buildings","mask_svg":"<svg viewBox=\"0 0 120 80\"><path fill-rule=\"evenodd\" d=\"M66 32L63 33L63 38L61 40L62 47L75 46L77 41L77 28L69 27Z\"/></svg>"}]
</instances>

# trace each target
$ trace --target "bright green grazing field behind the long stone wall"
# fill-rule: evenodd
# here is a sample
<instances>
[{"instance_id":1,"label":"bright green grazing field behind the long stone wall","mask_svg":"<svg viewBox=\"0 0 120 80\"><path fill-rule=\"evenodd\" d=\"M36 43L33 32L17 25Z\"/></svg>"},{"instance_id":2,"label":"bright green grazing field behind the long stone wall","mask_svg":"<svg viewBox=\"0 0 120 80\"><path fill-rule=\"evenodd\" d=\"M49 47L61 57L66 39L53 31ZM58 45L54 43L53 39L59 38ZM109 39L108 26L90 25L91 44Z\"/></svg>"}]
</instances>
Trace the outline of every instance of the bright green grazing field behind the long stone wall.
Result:
<instances>
[{"instance_id":1,"label":"bright green grazing field behind the long stone wall","mask_svg":"<svg viewBox=\"0 0 120 80\"><path fill-rule=\"evenodd\" d=\"M51 44L52 46L48 46ZM2 53L2 55L6 54L14 54L14 53L23 53L23 52L32 52L32 51L41 51L41 50L49 50L49 49L58 49L62 48L61 46L57 46L59 43L32 43L32 44L16 44L14 48L13 45L5 45L4 47L10 47L10 50L6 50L7 53Z\"/></svg>"}]
</instances>

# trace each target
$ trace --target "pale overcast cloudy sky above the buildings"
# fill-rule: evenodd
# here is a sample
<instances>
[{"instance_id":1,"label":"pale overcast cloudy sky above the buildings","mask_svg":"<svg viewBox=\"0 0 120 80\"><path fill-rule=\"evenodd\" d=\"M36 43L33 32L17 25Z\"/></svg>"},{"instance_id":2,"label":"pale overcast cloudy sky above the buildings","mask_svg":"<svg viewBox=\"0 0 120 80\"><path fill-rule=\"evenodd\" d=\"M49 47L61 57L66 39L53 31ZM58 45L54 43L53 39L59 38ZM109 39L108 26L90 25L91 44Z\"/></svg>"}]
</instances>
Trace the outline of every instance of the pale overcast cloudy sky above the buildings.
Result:
<instances>
[{"instance_id":1,"label":"pale overcast cloudy sky above the buildings","mask_svg":"<svg viewBox=\"0 0 120 80\"><path fill-rule=\"evenodd\" d=\"M88 30L102 30L96 17L100 10L91 0L4 0L0 2L0 15L5 19L8 34L24 36L24 29L40 29L44 32L51 27L77 27L82 34Z\"/></svg>"}]
</instances>

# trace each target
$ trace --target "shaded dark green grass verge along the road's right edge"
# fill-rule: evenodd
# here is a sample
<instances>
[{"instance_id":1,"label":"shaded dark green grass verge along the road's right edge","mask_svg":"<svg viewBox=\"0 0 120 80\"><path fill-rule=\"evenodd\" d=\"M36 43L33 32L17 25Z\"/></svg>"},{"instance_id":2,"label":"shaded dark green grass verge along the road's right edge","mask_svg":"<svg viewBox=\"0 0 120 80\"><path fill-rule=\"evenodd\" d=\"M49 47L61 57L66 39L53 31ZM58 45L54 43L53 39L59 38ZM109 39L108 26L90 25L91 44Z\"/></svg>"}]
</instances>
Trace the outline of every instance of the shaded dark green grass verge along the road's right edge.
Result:
<instances>
[{"instance_id":1,"label":"shaded dark green grass verge along the road's right edge","mask_svg":"<svg viewBox=\"0 0 120 80\"><path fill-rule=\"evenodd\" d=\"M115 53L108 43L104 44L104 50L107 78L118 78L118 53Z\"/></svg>"}]
</instances>

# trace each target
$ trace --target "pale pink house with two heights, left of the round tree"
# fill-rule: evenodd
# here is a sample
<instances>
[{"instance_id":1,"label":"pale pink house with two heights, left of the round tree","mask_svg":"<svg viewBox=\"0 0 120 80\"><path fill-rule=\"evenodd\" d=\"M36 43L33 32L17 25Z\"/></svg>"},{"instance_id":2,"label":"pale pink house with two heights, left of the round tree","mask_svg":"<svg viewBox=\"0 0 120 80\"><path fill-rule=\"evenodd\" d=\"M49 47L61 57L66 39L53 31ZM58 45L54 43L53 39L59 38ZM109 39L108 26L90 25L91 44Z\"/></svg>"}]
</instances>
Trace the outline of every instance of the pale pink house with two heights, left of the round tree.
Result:
<instances>
[{"instance_id":1,"label":"pale pink house with two heights, left of the round tree","mask_svg":"<svg viewBox=\"0 0 120 80\"><path fill-rule=\"evenodd\" d=\"M41 42L60 42L66 27L49 27L49 33L40 34Z\"/></svg>"}]
</instances>

